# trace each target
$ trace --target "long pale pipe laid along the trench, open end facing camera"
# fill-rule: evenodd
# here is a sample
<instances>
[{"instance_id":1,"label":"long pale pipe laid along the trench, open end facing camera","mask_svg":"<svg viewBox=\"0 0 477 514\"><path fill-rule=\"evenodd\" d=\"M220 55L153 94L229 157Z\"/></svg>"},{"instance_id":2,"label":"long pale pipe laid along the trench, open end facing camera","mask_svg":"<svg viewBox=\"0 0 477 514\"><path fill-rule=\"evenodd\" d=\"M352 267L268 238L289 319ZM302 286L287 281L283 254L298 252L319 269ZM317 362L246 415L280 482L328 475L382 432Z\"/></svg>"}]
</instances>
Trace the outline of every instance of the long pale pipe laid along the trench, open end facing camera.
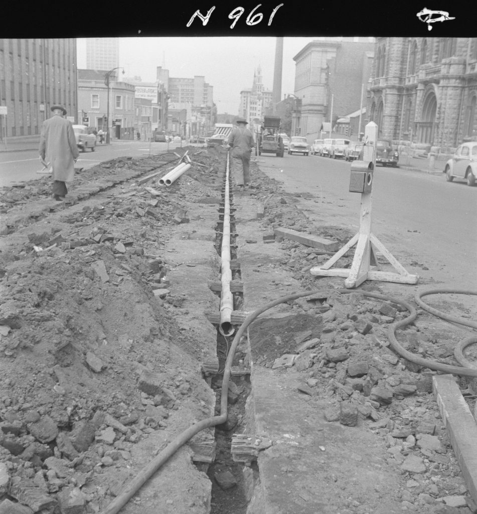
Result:
<instances>
[{"instance_id":1,"label":"long pale pipe laid along the trench, open end facing camera","mask_svg":"<svg viewBox=\"0 0 477 514\"><path fill-rule=\"evenodd\" d=\"M220 324L219 332L223 336L234 333L231 317L234 310L234 297L230 290L232 271L230 269L230 181L229 181L230 154L227 153L227 167L225 170L225 199L223 213L222 249L221 249L221 281L220 292Z\"/></svg>"}]
</instances>

